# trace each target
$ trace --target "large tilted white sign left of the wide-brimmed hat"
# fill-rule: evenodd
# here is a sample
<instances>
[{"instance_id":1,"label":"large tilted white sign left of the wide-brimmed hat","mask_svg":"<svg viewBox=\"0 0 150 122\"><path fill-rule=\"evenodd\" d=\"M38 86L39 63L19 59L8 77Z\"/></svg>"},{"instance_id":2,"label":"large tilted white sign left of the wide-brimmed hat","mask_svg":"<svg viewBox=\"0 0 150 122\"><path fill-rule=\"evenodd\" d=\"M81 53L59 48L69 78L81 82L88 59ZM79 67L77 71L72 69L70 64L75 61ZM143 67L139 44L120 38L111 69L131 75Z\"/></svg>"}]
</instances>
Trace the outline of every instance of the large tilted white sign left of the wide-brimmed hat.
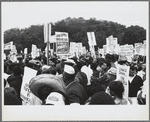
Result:
<instances>
[{"instance_id":1,"label":"large tilted white sign left of the wide-brimmed hat","mask_svg":"<svg viewBox=\"0 0 150 122\"><path fill-rule=\"evenodd\" d=\"M29 82L30 80L35 77L37 74L37 71L34 69L31 69L29 67L24 68L24 75L23 75L23 81L21 85L21 92L20 97L23 101L30 103L31 101L31 92L29 88Z\"/></svg>"}]
</instances>

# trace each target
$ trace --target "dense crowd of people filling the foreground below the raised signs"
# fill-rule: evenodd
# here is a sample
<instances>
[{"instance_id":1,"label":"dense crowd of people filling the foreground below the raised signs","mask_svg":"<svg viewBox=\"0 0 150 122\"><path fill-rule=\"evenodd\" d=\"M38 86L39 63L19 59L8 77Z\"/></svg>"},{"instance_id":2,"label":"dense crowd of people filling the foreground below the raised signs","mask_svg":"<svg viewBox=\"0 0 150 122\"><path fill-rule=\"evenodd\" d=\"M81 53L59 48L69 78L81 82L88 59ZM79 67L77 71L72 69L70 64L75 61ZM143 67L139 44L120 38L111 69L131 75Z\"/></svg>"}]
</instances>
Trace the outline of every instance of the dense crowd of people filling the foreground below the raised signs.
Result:
<instances>
[{"instance_id":1,"label":"dense crowd of people filling the foreground below the raised signs","mask_svg":"<svg viewBox=\"0 0 150 122\"><path fill-rule=\"evenodd\" d=\"M44 54L39 57L21 55L16 62L4 60L4 105L145 105L147 93L146 60L135 56L90 52L79 57L60 59L51 56L47 65ZM137 58L138 57L138 58ZM128 97L121 80L116 80L117 65L129 66ZM24 68L37 70L29 81L30 102L21 97Z\"/></svg>"}]
</instances>

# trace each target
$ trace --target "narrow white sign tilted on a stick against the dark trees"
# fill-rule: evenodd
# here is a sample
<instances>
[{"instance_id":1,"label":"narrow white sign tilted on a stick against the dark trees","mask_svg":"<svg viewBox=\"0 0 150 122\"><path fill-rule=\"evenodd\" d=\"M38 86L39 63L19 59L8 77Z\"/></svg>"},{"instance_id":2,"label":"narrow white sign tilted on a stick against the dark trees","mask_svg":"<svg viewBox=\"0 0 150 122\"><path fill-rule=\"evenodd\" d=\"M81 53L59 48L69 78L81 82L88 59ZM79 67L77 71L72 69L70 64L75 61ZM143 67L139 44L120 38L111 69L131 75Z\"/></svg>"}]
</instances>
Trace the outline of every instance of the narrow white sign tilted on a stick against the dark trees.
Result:
<instances>
[{"instance_id":1,"label":"narrow white sign tilted on a stick against the dark trees","mask_svg":"<svg viewBox=\"0 0 150 122\"><path fill-rule=\"evenodd\" d=\"M87 32L87 36L88 36L88 42L89 42L89 46L95 46L96 45L96 39L95 39L95 34L94 32Z\"/></svg>"}]
</instances>

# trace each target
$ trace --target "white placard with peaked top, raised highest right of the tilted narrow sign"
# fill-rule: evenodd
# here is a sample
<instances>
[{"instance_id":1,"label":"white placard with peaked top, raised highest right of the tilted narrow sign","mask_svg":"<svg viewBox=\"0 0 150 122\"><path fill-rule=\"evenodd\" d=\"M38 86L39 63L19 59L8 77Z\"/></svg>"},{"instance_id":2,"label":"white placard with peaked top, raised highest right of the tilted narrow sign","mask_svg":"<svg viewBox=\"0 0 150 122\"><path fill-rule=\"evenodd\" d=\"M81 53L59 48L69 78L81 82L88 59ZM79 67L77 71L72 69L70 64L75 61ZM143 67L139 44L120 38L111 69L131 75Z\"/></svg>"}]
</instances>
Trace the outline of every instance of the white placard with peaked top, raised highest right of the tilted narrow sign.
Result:
<instances>
[{"instance_id":1,"label":"white placard with peaked top, raised highest right of the tilted narrow sign","mask_svg":"<svg viewBox=\"0 0 150 122\"><path fill-rule=\"evenodd\" d=\"M118 40L117 38L113 38L113 36L109 36L106 38L106 45L107 45L107 53L109 54L117 54L118 51Z\"/></svg>"}]
</instances>

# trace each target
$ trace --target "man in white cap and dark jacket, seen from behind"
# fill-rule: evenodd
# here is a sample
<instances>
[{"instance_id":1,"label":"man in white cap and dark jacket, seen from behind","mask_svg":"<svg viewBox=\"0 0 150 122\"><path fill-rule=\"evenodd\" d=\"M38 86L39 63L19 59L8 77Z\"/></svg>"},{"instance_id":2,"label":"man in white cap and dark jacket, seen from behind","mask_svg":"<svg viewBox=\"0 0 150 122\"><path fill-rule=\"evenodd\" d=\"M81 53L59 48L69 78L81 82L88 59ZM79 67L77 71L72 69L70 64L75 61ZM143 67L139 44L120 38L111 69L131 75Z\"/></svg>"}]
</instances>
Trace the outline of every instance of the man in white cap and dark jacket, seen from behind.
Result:
<instances>
[{"instance_id":1,"label":"man in white cap and dark jacket, seen from behind","mask_svg":"<svg viewBox=\"0 0 150 122\"><path fill-rule=\"evenodd\" d=\"M74 80L75 69L71 64L64 65L63 80L66 84L66 94L68 96L69 104L78 103L85 104L87 94L83 86Z\"/></svg>"}]
</instances>

